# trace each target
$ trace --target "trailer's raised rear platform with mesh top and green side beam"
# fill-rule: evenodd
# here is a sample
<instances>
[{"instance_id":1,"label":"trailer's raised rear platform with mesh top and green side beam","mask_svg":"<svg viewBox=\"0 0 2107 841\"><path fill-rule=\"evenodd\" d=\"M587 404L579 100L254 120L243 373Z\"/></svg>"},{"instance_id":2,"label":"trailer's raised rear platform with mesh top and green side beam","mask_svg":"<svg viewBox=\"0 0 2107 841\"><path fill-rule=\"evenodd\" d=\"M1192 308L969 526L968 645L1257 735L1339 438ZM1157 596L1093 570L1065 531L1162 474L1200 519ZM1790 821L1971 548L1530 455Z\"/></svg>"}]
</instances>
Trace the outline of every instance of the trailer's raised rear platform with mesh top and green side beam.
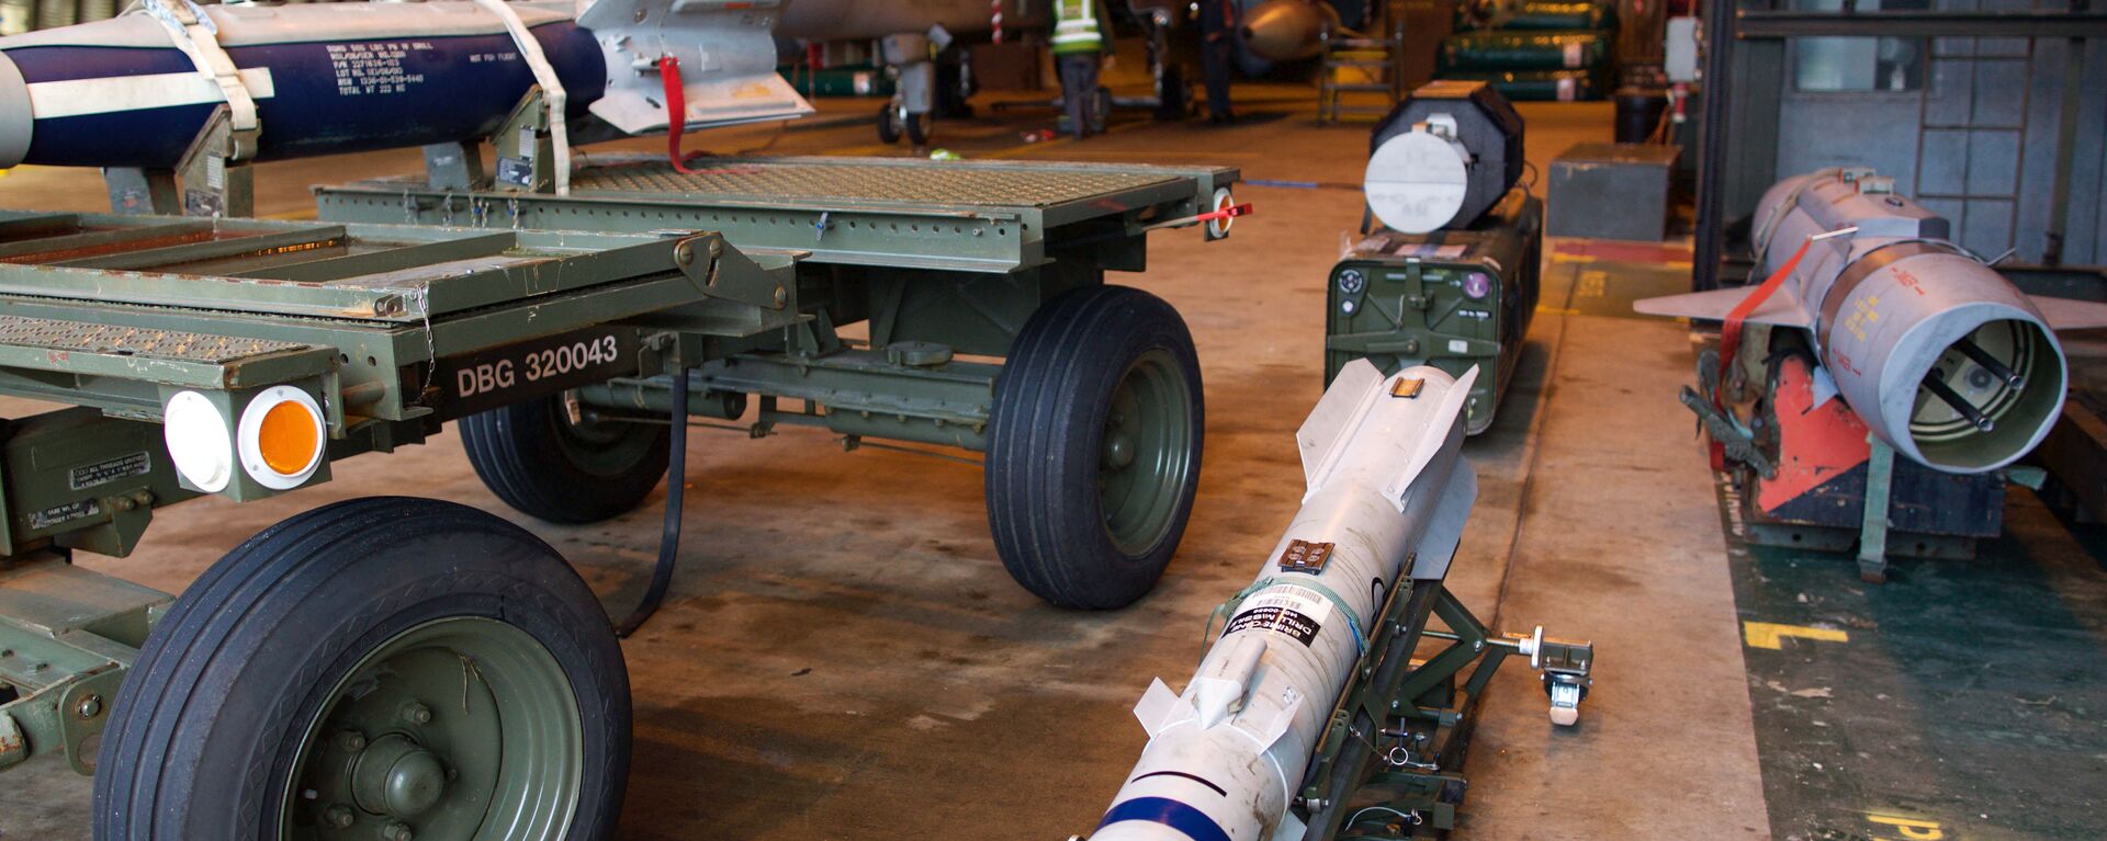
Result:
<instances>
[{"instance_id":1,"label":"trailer's raised rear platform with mesh top and green side beam","mask_svg":"<svg viewBox=\"0 0 2107 841\"><path fill-rule=\"evenodd\" d=\"M402 175L318 188L322 219L641 232L704 228L744 247L807 251L809 263L1016 272L1054 251L1127 245L1148 226L1214 211L1228 167L942 162L908 158L609 156L569 196L476 192ZM1209 230L1220 238L1226 226ZM1106 251L1108 255L1112 251ZM1142 270L1140 257L1108 263Z\"/></svg>"}]
</instances>

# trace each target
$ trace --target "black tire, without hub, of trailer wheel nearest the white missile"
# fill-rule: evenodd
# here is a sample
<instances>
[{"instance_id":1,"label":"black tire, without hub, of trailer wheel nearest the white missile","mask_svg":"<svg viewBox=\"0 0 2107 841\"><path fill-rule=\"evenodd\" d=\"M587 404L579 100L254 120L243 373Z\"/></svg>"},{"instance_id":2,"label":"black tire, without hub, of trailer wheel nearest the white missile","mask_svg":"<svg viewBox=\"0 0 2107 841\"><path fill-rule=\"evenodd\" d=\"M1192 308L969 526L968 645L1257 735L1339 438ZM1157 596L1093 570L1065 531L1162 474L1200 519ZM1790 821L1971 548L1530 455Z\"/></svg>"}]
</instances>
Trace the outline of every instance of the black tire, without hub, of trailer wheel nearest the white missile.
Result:
<instances>
[{"instance_id":1,"label":"black tire, without hub, of trailer wheel nearest the white missile","mask_svg":"<svg viewBox=\"0 0 2107 841\"><path fill-rule=\"evenodd\" d=\"M1098 489L1104 422L1129 365L1155 350L1176 358L1190 392L1190 470L1169 527L1146 550L1125 552L1108 533ZM1115 609L1148 594L1193 514L1203 428L1199 354L1167 301L1140 289L1083 287L1041 306L995 382L986 497L1003 567L1060 607Z\"/></svg>"}]
</instances>

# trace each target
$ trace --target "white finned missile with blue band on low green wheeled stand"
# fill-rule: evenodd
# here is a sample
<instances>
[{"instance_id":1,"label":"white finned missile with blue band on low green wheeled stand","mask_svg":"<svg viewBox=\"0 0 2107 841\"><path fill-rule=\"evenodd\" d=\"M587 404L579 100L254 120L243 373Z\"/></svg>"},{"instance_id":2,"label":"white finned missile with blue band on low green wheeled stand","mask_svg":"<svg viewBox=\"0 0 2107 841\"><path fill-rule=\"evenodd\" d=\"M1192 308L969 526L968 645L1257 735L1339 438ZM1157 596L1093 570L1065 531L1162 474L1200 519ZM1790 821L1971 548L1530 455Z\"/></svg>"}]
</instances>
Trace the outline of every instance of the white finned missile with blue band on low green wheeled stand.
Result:
<instances>
[{"instance_id":1,"label":"white finned missile with blue band on low green wheeled stand","mask_svg":"<svg viewBox=\"0 0 2107 841\"><path fill-rule=\"evenodd\" d=\"M1287 807L1370 622L1401 578L1445 571L1477 497L1475 377L1340 371L1296 434L1302 510L1184 693L1155 681L1134 708L1150 740L1091 841L1300 839Z\"/></svg>"}]
</instances>

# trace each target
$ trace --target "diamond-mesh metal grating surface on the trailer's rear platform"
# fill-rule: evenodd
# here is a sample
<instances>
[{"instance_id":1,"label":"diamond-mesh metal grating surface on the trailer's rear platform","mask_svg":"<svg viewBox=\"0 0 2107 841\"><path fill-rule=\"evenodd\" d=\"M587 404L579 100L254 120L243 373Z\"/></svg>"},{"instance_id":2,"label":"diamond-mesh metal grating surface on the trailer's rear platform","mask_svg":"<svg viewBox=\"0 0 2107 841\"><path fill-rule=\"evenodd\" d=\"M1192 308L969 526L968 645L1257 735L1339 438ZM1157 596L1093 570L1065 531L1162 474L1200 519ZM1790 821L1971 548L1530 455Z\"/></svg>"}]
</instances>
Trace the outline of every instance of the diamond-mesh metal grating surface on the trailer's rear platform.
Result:
<instances>
[{"instance_id":1,"label":"diamond-mesh metal grating surface on the trailer's rear platform","mask_svg":"<svg viewBox=\"0 0 2107 841\"><path fill-rule=\"evenodd\" d=\"M765 202L1054 207L1182 181L1180 175L1083 167L902 167L752 158L712 158L697 167L700 175L681 175L662 162L598 167L577 173L571 188Z\"/></svg>"}]
</instances>

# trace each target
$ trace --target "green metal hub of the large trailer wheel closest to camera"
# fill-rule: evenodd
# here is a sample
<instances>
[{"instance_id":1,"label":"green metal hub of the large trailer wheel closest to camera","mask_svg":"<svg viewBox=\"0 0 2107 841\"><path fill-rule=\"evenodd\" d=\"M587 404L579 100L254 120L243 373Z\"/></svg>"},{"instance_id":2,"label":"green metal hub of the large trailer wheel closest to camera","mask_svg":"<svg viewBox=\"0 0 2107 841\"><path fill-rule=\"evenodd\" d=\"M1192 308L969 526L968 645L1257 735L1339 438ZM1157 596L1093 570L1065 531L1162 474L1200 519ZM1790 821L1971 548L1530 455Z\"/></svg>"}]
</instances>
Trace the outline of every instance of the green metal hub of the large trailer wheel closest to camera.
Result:
<instances>
[{"instance_id":1,"label":"green metal hub of the large trailer wheel closest to camera","mask_svg":"<svg viewBox=\"0 0 2107 841\"><path fill-rule=\"evenodd\" d=\"M571 681L510 624L445 618L324 696L280 803L284 839L560 839L579 807Z\"/></svg>"}]
</instances>

